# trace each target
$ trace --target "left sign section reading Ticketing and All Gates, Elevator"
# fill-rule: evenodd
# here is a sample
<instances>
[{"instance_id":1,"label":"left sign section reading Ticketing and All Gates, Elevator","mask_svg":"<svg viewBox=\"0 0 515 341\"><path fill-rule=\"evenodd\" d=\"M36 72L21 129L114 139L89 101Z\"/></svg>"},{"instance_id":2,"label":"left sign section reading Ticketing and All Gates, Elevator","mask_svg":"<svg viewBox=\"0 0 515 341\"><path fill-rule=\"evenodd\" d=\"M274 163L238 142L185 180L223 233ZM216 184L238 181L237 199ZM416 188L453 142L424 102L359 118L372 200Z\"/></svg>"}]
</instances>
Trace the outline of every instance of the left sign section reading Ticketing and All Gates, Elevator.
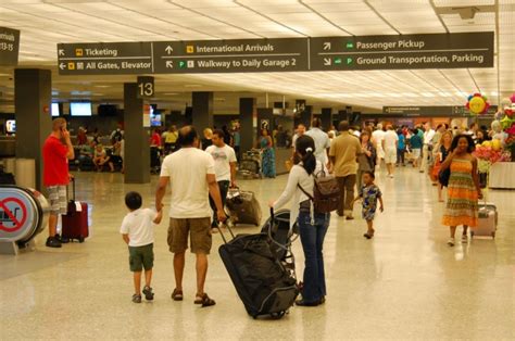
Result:
<instances>
[{"instance_id":1,"label":"left sign section reading Ticketing and All Gates, Elevator","mask_svg":"<svg viewBox=\"0 0 515 341\"><path fill-rule=\"evenodd\" d=\"M153 73L151 42L59 43L61 75Z\"/></svg>"}]
</instances>

